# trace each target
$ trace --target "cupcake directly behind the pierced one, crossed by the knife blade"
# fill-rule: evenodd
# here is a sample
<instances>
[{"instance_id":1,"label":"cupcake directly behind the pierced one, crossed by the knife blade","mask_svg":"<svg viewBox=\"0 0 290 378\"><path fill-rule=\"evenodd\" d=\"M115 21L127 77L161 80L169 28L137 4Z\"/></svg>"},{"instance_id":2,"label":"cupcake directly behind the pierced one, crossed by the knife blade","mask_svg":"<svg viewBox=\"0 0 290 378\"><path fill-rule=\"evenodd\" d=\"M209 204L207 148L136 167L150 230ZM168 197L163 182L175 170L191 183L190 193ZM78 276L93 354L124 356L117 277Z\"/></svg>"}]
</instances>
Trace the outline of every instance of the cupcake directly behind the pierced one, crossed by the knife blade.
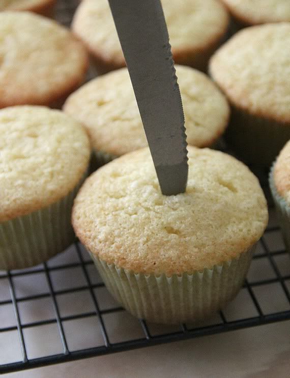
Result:
<instances>
[{"instance_id":1,"label":"cupcake directly behind the pierced one, crossed by the knife blade","mask_svg":"<svg viewBox=\"0 0 290 378\"><path fill-rule=\"evenodd\" d=\"M226 128L227 100L204 73L185 66L176 69L187 142L210 146ZM127 68L79 88L66 100L64 111L88 130L98 166L148 145Z\"/></svg>"}]
</instances>

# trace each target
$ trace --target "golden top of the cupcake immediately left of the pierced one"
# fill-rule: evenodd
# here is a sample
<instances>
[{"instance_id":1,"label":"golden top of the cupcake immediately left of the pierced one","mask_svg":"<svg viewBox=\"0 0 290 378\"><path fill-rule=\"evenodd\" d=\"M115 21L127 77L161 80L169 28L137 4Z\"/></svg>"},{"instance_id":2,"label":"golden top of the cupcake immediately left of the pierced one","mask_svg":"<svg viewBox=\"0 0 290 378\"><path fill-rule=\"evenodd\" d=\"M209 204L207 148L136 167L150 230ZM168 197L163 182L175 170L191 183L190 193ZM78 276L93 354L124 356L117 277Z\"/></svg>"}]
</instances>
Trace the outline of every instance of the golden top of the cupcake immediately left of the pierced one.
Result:
<instances>
[{"instance_id":1,"label":"golden top of the cupcake immediately left of the pierced one","mask_svg":"<svg viewBox=\"0 0 290 378\"><path fill-rule=\"evenodd\" d=\"M88 167L88 136L58 110L2 109L0 135L0 222L65 197Z\"/></svg>"}]
</instances>

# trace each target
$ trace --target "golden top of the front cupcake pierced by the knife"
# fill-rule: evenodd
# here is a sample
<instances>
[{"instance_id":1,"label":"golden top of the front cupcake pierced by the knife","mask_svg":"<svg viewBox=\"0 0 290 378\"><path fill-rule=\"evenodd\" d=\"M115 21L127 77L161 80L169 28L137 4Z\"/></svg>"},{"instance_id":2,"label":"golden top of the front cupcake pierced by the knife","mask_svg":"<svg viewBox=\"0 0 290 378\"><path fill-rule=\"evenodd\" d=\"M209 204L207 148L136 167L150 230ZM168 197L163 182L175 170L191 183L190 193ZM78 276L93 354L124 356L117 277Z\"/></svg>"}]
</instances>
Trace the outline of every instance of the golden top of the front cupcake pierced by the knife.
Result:
<instances>
[{"instance_id":1,"label":"golden top of the front cupcake pierced by the knife","mask_svg":"<svg viewBox=\"0 0 290 378\"><path fill-rule=\"evenodd\" d=\"M232 260L263 234L258 180L235 158L188 147L186 193L161 194L149 148L103 166L80 189L72 221L108 264L145 274L193 272Z\"/></svg>"}]
</instances>

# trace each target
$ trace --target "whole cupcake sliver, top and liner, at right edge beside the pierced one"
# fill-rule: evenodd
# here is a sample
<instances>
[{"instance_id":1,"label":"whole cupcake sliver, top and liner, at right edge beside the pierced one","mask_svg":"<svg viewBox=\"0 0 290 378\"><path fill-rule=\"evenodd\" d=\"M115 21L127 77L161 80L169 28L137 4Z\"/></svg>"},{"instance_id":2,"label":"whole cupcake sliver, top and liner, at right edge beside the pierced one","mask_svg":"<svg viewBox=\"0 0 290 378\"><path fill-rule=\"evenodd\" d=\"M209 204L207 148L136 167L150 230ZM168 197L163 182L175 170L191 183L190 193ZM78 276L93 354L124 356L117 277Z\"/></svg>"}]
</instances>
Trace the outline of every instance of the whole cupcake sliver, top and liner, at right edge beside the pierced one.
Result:
<instances>
[{"instance_id":1,"label":"whole cupcake sliver, top and liner, at right edge beside the pierced one","mask_svg":"<svg viewBox=\"0 0 290 378\"><path fill-rule=\"evenodd\" d=\"M273 164L269 183L285 245L290 251L290 141Z\"/></svg>"}]
</instances>

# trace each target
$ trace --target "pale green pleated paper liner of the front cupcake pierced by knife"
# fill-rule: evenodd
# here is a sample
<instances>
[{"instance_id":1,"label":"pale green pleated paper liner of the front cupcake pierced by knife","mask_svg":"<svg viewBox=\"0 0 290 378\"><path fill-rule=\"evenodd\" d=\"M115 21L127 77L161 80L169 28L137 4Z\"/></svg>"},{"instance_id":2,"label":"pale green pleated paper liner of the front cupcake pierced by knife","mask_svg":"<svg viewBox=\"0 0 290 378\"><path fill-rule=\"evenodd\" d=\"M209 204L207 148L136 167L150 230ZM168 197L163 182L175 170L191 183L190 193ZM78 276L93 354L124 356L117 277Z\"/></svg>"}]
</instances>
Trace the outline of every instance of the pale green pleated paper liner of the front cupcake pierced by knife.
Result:
<instances>
[{"instance_id":1,"label":"pale green pleated paper liner of the front cupcake pierced by knife","mask_svg":"<svg viewBox=\"0 0 290 378\"><path fill-rule=\"evenodd\" d=\"M241 288L254 247L212 269L170 277L134 273L91 256L107 289L127 311L151 322L175 324L223 308Z\"/></svg>"}]
</instances>

